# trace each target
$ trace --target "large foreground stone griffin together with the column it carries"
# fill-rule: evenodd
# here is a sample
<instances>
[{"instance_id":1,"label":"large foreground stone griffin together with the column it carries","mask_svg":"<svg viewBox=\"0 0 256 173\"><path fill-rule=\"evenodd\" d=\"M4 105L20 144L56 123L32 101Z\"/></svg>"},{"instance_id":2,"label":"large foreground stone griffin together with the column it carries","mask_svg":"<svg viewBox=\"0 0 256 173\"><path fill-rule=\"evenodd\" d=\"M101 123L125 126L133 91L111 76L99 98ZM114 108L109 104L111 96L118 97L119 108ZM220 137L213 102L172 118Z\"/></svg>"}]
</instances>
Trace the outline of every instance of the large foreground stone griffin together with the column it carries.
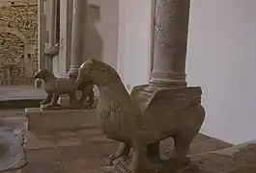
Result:
<instances>
[{"instance_id":1,"label":"large foreground stone griffin together with the column it carries","mask_svg":"<svg viewBox=\"0 0 256 173\"><path fill-rule=\"evenodd\" d=\"M80 66L76 85L92 80L99 86L100 127L108 137L122 142L110 158L117 172L190 169L186 155L203 124L205 111L201 88L187 87L185 81L189 7L189 0L156 0L150 85L133 87L130 96L113 68L95 60ZM171 158L163 161L159 142L170 136L175 148Z\"/></svg>"}]
</instances>

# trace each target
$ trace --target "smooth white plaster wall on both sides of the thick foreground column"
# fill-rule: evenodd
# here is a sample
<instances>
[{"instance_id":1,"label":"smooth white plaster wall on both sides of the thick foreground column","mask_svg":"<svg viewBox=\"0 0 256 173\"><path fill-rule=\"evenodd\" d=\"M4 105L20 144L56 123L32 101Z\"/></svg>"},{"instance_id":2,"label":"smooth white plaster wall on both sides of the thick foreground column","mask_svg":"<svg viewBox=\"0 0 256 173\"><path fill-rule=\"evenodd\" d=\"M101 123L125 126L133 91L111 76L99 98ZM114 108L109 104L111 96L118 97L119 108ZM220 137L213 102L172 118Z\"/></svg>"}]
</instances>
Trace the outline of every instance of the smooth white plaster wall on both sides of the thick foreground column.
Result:
<instances>
[{"instance_id":1,"label":"smooth white plaster wall on both sides of the thick foreground column","mask_svg":"<svg viewBox=\"0 0 256 173\"><path fill-rule=\"evenodd\" d=\"M118 70L145 84L150 64L150 0L120 0ZM186 73L202 86L202 133L241 143L256 139L256 1L191 0Z\"/></svg>"}]
</instances>

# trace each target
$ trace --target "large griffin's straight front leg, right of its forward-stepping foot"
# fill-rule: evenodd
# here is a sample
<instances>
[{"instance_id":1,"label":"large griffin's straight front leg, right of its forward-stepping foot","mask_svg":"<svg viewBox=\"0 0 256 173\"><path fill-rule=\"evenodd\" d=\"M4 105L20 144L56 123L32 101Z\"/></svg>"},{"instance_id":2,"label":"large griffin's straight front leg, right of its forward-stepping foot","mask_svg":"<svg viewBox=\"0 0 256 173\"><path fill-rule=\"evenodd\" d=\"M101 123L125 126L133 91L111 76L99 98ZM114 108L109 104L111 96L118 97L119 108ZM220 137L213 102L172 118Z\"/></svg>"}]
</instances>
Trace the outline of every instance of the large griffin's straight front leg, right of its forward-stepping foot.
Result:
<instances>
[{"instance_id":1,"label":"large griffin's straight front leg, right of its forward-stepping foot","mask_svg":"<svg viewBox=\"0 0 256 173\"><path fill-rule=\"evenodd\" d=\"M131 173L146 173L146 154L147 147L141 144L132 147L132 159L130 162Z\"/></svg>"}]
</instances>

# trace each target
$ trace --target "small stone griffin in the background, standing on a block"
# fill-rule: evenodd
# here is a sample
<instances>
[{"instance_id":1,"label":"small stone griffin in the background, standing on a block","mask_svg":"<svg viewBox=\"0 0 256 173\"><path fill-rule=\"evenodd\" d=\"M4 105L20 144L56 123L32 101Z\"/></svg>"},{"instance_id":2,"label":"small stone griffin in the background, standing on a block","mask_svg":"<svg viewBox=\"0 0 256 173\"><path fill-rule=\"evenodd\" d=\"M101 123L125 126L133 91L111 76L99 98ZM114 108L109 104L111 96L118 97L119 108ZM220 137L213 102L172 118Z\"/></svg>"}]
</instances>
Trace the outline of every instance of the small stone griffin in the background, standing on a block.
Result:
<instances>
[{"instance_id":1,"label":"small stone griffin in the background, standing on a block","mask_svg":"<svg viewBox=\"0 0 256 173\"><path fill-rule=\"evenodd\" d=\"M47 93L46 98L41 102L43 109L49 108L60 108L58 99L62 94L69 94L70 96L70 105L77 106L82 105L85 102L85 99L90 97L90 104L94 102L94 92L93 85L83 86L79 88L82 90L82 96L79 101L76 99L76 88L74 86L75 78L57 78L47 69L40 69L34 77L36 79L43 80L43 89Z\"/></svg>"}]
</instances>

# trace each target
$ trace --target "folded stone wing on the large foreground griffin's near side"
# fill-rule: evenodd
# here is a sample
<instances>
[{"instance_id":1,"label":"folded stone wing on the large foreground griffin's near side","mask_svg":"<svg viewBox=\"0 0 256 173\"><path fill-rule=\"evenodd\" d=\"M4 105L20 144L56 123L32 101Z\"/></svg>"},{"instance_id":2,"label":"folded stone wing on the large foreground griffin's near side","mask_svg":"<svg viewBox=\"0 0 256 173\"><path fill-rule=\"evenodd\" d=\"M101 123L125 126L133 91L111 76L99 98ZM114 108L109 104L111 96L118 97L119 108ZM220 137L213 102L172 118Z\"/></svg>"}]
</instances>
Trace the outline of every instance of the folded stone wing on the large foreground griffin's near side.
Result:
<instances>
[{"instance_id":1,"label":"folded stone wing on the large foreground griffin's near side","mask_svg":"<svg viewBox=\"0 0 256 173\"><path fill-rule=\"evenodd\" d=\"M144 111L162 113L183 110L201 104L201 87L173 87L156 90Z\"/></svg>"}]
</instances>

